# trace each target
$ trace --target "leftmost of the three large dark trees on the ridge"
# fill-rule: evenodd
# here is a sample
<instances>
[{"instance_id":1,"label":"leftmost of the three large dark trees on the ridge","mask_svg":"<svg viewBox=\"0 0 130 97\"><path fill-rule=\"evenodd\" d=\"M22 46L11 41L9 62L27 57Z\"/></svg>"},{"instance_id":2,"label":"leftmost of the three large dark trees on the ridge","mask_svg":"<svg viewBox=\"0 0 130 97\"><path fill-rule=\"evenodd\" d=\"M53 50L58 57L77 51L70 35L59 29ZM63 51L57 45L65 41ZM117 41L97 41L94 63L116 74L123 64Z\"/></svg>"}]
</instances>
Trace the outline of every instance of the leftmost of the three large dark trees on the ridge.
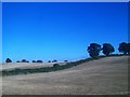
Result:
<instances>
[{"instance_id":1,"label":"leftmost of the three large dark trees on the ridge","mask_svg":"<svg viewBox=\"0 0 130 97\"><path fill-rule=\"evenodd\" d=\"M88 53L92 58L98 58L101 52L101 45L98 43L91 43L90 46L88 46Z\"/></svg>"}]
</instances>

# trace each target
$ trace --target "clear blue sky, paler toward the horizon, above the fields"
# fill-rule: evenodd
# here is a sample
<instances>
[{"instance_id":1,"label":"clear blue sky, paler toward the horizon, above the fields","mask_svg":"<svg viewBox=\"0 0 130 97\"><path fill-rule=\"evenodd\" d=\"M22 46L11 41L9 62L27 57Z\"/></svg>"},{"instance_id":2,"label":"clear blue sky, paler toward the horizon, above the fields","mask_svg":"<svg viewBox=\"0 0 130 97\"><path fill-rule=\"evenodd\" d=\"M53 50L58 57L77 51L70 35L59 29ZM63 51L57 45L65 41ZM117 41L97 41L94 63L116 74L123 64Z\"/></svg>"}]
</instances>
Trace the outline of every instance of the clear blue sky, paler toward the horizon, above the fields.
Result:
<instances>
[{"instance_id":1,"label":"clear blue sky, paler toward the horizon, above the fields","mask_svg":"<svg viewBox=\"0 0 130 97\"><path fill-rule=\"evenodd\" d=\"M2 3L4 61L89 57L90 43L128 41L128 3Z\"/></svg>"}]
</instances>

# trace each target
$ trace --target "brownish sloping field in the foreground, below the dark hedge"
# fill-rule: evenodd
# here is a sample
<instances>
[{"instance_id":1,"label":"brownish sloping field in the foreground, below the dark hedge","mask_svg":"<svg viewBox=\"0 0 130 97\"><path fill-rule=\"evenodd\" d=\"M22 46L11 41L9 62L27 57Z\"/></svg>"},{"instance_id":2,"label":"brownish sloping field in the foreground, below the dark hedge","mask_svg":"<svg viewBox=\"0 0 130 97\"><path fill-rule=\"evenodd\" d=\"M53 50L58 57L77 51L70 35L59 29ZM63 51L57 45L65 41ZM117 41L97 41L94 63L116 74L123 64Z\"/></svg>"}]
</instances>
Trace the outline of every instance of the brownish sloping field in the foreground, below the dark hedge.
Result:
<instances>
[{"instance_id":1,"label":"brownish sloping field in the foreground, below the dark hedge","mask_svg":"<svg viewBox=\"0 0 130 97\"><path fill-rule=\"evenodd\" d=\"M128 94L128 57L107 57L74 68L2 78L3 95Z\"/></svg>"}]
</instances>

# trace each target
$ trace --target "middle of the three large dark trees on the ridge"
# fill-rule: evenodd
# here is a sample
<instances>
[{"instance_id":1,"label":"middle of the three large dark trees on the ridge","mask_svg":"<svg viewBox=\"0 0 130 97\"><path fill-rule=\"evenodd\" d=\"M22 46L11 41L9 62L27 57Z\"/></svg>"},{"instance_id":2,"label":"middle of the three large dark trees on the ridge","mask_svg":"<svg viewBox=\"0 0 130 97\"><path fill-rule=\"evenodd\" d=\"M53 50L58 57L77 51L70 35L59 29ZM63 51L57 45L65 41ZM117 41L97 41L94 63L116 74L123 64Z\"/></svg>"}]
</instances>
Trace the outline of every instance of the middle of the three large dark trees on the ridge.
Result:
<instances>
[{"instance_id":1,"label":"middle of the three large dark trees on the ridge","mask_svg":"<svg viewBox=\"0 0 130 97\"><path fill-rule=\"evenodd\" d=\"M114 46L109 43L104 43L102 50L103 54L105 54L106 56L109 56L110 53L115 52Z\"/></svg>"}]
</instances>

